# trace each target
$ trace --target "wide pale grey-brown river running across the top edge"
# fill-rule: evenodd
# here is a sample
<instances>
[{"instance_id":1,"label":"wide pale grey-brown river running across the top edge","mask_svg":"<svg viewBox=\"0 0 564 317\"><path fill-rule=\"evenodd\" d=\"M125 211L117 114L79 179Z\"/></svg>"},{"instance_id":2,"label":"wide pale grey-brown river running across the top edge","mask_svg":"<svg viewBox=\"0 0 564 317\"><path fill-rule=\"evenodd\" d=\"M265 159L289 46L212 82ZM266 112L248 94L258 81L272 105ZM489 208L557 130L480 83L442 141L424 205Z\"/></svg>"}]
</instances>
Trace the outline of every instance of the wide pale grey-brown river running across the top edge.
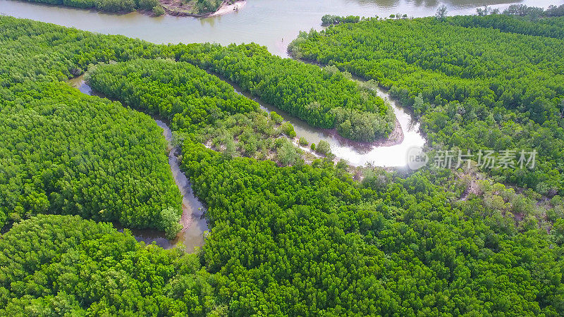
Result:
<instances>
[{"instance_id":1,"label":"wide pale grey-brown river running across the top edge","mask_svg":"<svg viewBox=\"0 0 564 317\"><path fill-rule=\"evenodd\" d=\"M55 23L80 30L103 34L118 34L145 39L157 44L216 42L219 44L250 43L265 45L273 54L287 56L286 48L300 30L321 29L324 14L387 17L407 14L421 17L434 15L441 4L448 14L475 13L485 4L505 8L520 3L546 7L561 4L548 0L247 0L239 11L209 18L174 17L153 18L140 13L123 15L99 13L32 4L25 1L0 0L0 14Z\"/></svg>"}]
</instances>

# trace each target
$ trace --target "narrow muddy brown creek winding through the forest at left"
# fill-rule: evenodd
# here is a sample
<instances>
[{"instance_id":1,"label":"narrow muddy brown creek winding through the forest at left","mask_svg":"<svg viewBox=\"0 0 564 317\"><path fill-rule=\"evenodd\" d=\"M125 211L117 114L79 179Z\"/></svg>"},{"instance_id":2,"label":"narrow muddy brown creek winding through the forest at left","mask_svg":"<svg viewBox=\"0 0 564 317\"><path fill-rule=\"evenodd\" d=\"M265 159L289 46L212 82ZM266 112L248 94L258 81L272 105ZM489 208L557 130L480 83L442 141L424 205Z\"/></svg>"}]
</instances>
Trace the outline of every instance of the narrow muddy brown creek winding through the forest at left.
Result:
<instances>
[{"instance_id":1,"label":"narrow muddy brown creek winding through the forest at left","mask_svg":"<svg viewBox=\"0 0 564 317\"><path fill-rule=\"evenodd\" d=\"M80 90L83 94L89 94L91 96L97 95L96 92L92 91L92 88L86 84L82 76L73 78L69 80L68 83ZM163 136L166 142L168 142L168 165L171 166L174 182L176 182L178 190L180 190L180 194L182 195L183 213L180 223L182 223L183 229L173 240L167 240L164 232L159 230L130 229L130 231L137 241L143 241L146 244L155 242L164 249L170 249L182 243L186 247L186 251L191 253L196 247L202 247L204 245L204 233L208 230L206 218L204 217L204 205L197 199L192 191L190 180L188 180L186 175L180 170L180 160L178 159L180 149L173 146L171 129L168 128L168 125L162 120L155 118L154 120L157 125L163 129ZM116 228L123 230L123 227L120 225L116 225Z\"/></svg>"}]
</instances>

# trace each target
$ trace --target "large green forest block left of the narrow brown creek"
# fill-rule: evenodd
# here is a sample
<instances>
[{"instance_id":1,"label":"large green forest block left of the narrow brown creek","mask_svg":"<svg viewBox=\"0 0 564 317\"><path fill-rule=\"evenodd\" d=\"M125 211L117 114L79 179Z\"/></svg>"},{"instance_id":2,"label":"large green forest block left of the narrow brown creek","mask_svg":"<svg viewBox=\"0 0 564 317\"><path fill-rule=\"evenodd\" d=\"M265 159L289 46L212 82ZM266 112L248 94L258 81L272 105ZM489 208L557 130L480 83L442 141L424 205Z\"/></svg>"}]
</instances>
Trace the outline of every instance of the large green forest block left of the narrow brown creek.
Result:
<instances>
[{"instance_id":1,"label":"large green forest block left of the narrow brown creek","mask_svg":"<svg viewBox=\"0 0 564 317\"><path fill-rule=\"evenodd\" d=\"M173 228L160 218L169 207L176 222L181 213L162 130L145 114L58 82L89 63L151 49L28 20L0 17L0 25L0 227L65 213Z\"/></svg>"}]
</instances>

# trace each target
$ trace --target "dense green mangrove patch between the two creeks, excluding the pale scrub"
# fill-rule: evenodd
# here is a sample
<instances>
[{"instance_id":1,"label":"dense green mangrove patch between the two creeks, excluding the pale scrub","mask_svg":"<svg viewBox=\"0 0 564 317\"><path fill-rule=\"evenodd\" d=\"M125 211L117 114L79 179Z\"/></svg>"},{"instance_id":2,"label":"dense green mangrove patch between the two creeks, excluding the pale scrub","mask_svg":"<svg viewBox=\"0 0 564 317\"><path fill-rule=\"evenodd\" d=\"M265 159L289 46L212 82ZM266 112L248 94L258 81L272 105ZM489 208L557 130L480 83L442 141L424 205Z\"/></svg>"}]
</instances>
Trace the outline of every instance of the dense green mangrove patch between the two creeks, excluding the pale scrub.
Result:
<instances>
[{"instance_id":1,"label":"dense green mangrove patch between the two creeks, excluding the pale scrub","mask_svg":"<svg viewBox=\"0 0 564 317\"><path fill-rule=\"evenodd\" d=\"M87 73L92 89L171 122L172 130L194 132L229 114L259 105L231 85L189 63L137 59L99 65Z\"/></svg>"}]
</instances>

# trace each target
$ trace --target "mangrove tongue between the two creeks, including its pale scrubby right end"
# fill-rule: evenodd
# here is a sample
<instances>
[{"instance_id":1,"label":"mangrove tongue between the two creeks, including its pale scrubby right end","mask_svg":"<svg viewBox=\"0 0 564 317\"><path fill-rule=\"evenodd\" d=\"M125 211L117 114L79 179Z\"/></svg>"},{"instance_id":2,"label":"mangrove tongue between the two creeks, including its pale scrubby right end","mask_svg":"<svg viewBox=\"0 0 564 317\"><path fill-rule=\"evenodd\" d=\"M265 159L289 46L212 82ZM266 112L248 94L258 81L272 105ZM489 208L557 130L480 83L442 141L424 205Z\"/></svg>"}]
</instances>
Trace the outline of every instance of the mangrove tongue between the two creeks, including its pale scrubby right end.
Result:
<instances>
[{"instance_id":1,"label":"mangrove tongue between the two creeks, including its pale scrubby right end","mask_svg":"<svg viewBox=\"0 0 564 317\"><path fill-rule=\"evenodd\" d=\"M291 144L296 135L290 123L189 63L137 59L101 64L88 71L86 80L106 97L166 118L177 138L196 139L228 156L288 165L305 154Z\"/></svg>"}]
</instances>

